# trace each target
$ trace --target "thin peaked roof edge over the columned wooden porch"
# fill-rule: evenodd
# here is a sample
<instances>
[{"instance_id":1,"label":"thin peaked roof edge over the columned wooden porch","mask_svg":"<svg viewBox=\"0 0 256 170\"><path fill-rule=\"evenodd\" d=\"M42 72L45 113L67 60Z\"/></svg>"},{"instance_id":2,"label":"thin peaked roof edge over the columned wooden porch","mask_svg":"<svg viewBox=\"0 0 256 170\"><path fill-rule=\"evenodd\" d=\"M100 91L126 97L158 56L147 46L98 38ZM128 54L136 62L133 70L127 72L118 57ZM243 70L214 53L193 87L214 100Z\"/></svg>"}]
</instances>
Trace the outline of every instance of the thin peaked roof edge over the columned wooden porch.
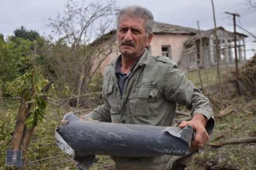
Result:
<instances>
[{"instance_id":1,"label":"thin peaked roof edge over the columned wooden porch","mask_svg":"<svg viewBox=\"0 0 256 170\"><path fill-rule=\"evenodd\" d=\"M201 31L201 33L200 33L201 38L209 38L209 37L212 35L212 33L214 33L214 30L215 30L215 29L212 28L211 30ZM219 26L219 27L217 28L217 30L227 31L227 30L225 30L222 26ZM231 31L227 31L227 32L233 34L233 32L231 32ZM241 36L243 36L243 37L248 37L247 35L245 35L245 34L243 34L243 33L238 33L238 32L236 32L236 34L241 35ZM189 45L189 43L195 42L196 40L199 40L199 39L200 39L200 35L199 35L199 33L197 33L197 34L194 35L193 37L189 38L189 40L187 40L187 42L185 42L185 45Z\"/></svg>"}]
</instances>

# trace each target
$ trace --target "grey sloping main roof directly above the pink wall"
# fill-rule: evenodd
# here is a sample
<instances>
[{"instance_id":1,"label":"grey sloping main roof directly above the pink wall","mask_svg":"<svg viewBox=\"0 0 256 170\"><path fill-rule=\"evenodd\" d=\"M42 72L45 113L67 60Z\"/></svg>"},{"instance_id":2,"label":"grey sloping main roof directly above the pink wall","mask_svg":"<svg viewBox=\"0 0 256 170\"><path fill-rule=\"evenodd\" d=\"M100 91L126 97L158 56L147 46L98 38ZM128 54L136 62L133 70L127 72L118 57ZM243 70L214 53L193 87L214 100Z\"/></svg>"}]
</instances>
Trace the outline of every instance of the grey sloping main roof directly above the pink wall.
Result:
<instances>
[{"instance_id":1,"label":"grey sloping main roof directly above the pink wall","mask_svg":"<svg viewBox=\"0 0 256 170\"><path fill-rule=\"evenodd\" d=\"M179 33L195 35L198 30L185 26L171 25L167 23L154 22L153 33Z\"/></svg>"}]
</instances>

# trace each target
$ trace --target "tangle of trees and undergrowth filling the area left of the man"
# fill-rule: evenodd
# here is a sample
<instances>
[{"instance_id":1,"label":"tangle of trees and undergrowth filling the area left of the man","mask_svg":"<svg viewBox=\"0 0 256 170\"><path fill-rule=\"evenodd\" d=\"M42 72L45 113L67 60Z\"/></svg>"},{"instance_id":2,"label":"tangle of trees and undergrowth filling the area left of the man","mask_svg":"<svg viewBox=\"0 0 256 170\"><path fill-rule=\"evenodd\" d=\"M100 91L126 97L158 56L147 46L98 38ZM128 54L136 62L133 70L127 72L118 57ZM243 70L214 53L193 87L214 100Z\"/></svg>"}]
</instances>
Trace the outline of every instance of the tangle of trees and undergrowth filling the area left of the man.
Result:
<instances>
[{"instance_id":1,"label":"tangle of trees and undergrowth filling the area left of the man","mask_svg":"<svg viewBox=\"0 0 256 170\"><path fill-rule=\"evenodd\" d=\"M22 150L26 169L71 164L55 145L54 129L64 113L84 114L102 103L102 74L93 61L112 52L112 42L96 47L113 28L115 10L113 1L69 1L49 24L57 41L24 26L0 36L0 169L6 150Z\"/></svg>"}]
</instances>

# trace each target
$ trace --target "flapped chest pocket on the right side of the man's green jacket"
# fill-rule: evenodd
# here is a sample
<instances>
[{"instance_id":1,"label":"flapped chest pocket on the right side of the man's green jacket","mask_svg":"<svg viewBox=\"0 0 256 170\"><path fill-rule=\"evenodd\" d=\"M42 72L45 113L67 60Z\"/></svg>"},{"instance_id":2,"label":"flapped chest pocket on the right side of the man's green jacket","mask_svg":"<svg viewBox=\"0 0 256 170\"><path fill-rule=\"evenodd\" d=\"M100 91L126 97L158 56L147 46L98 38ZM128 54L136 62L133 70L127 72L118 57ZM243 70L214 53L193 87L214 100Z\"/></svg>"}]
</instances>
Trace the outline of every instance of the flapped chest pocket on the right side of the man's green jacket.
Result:
<instances>
[{"instance_id":1,"label":"flapped chest pocket on the right side of the man's green jacket","mask_svg":"<svg viewBox=\"0 0 256 170\"><path fill-rule=\"evenodd\" d=\"M159 89L141 87L136 89L136 94L131 102L134 116L151 117L158 115Z\"/></svg>"}]
</instances>

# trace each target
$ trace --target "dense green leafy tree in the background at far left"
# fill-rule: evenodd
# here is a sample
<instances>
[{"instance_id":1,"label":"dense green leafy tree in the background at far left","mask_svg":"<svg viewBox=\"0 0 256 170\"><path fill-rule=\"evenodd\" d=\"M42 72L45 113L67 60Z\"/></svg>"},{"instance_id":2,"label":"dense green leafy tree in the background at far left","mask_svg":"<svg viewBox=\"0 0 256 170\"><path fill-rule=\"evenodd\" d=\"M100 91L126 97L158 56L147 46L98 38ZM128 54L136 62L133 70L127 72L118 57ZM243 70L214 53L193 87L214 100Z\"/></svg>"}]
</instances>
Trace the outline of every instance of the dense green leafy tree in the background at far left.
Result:
<instances>
[{"instance_id":1,"label":"dense green leafy tree in the background at far left","mask_svg":"<svg viewBox=\"0 0 256 170\"><path fill-rule=\"evenodd\" d=\"M32 67L34 42L37 42L37 66L47 67L43 53L46 41L37 31L27 31L21 26L13 34L6 40L0 36L0 79L3 82L22 76Z\"/></svg>"}]
</instances>

